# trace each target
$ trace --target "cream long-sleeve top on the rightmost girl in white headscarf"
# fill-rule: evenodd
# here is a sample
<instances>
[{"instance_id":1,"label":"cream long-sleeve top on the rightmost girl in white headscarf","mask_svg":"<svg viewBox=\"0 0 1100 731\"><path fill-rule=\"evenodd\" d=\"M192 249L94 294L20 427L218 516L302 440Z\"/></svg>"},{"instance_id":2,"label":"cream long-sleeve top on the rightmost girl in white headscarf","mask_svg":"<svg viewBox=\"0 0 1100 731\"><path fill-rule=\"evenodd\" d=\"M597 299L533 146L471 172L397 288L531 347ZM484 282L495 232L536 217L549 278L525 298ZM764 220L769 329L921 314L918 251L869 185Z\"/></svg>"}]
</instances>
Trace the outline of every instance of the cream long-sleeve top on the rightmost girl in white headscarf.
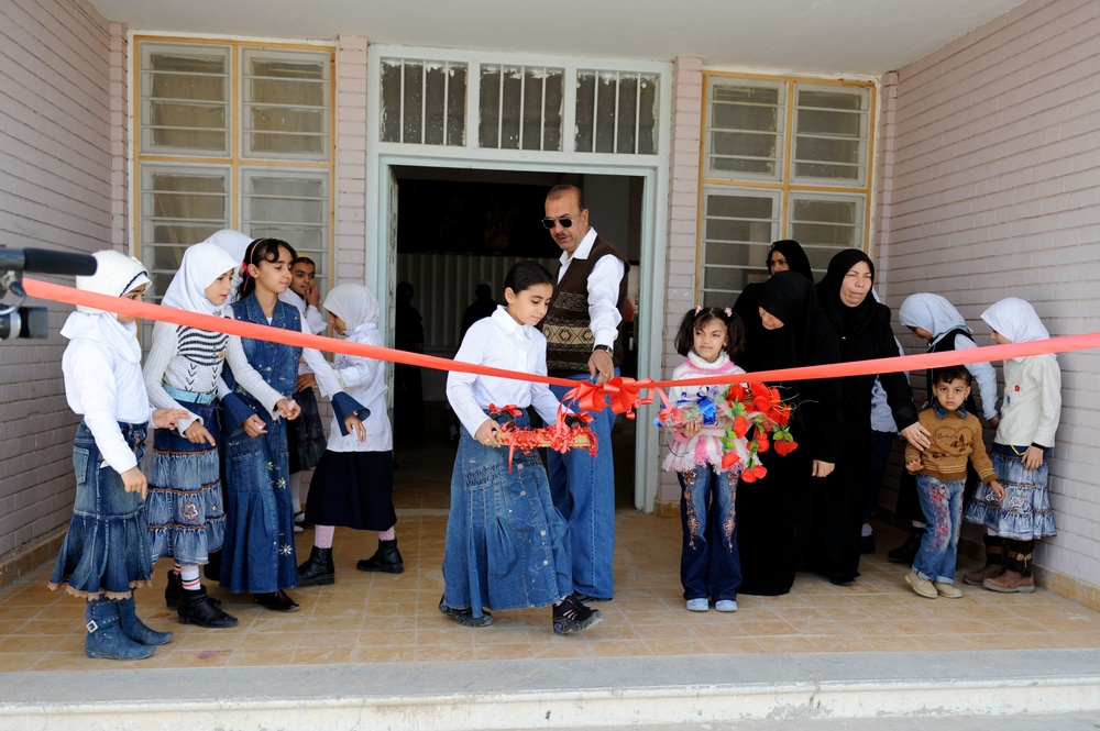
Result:
<instances>
[{"instance_id":1,"label":"cream long-sleeve top on the rightmost girl in white headscarf","mask_svg":"<svg viewBox=\"0 0 1100 731\"><path fill-rule=\"evenodd\" d=\"M1054 446L1062 417L1058 358L1032 355L1004 362L1004 402L997 425L998 444Z\"/></svg>"}]
</instances>

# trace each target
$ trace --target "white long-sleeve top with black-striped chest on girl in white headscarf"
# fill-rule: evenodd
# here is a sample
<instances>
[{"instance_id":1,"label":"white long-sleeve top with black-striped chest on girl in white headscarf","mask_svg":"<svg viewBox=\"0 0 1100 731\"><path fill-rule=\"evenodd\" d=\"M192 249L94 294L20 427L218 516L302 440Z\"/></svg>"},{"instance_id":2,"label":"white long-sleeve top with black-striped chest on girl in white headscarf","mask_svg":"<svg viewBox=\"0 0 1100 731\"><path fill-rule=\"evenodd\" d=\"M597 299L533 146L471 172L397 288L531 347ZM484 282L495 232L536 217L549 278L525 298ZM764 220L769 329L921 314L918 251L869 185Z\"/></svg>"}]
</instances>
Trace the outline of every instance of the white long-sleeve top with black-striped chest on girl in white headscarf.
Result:
<instances>
[{"instance_id":1,"label":"white long-sleeve top with black-striped chest on girl in white headscarf","mask_svg":"<svg viewBox=\"0 0 1100 731\"><path fill-rule=\"evenodd\" d=\"M164 390L167 384L191 394L210 394L218 389L222 366L229 362L233 376L244 390L258 400L268 412L275 413L275 405L283 395L267 385L267 381L249 365L237 335L208 332L195 328L182 328L169 322L153 325L153 344L145 357L142 369L145 390L150 402L158 409L184 409L186 403L177 402ZM190 413L180 419L176 428L180 434L201 419Z\"/></svg>"}]
</instances>

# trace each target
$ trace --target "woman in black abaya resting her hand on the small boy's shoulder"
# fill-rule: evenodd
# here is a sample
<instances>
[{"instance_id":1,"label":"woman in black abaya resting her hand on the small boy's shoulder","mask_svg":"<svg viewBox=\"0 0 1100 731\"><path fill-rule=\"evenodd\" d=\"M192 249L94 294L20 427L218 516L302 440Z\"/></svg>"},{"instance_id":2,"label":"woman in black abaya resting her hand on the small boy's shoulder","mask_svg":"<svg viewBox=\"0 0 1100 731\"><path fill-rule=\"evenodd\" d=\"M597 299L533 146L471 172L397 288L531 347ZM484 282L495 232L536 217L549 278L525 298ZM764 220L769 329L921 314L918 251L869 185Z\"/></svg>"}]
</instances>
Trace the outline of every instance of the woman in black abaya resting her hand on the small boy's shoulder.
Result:
<instances>
[{"instance_id":1,"label":"woman in black abaya resting her hand on the small boy's shoulder","mask_svg":"<svg viewBox=\"0 0 1100 731\"><path fill-rule=\"evenodd\" d=\"M817 297L840 344L840 361L869 361L898 355L890 309L871 297L875 265L867 254L847 248L829 262L817 284ZM913 391L901 373L881 374L887 402L902 434L920 450L928 432L916 421ZM840 384L844 440L836 469L817 495L811 552L813 568L839 586L859 576L859 535L869 481L871 387L875 374L845 376Z\"/></svg>"}]
</instances>

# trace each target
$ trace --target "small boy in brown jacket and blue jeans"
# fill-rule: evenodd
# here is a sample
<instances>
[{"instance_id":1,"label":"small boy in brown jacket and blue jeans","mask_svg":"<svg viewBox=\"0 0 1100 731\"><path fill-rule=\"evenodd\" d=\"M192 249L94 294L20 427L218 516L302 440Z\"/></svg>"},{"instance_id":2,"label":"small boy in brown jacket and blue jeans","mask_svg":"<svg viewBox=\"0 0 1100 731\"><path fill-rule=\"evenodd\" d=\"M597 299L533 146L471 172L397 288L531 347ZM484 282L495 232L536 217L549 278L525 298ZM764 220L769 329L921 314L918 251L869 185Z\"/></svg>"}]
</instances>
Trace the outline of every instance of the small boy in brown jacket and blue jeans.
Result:
<instances>
[{"instance_id":1,"label":"small boy in brown jacket and blue jeans","mask_svg":"<svg viewBox=\"0 0 1100 731\"><path fill-rule=\"evenodd\" d=\"M913 445L905 447L905 468L916 475L916 492L928 522L905 583L927 599L958 599L963 591L955 586L955 565L967 459L994 492L1003 497L1004 488L986 454L981 422L963 406L970 395L970 372L961 366L942 368L933 373L933 381L935 399L919 417L932 433L932 446L923 453Z\"/></svg>"}]
</instances>

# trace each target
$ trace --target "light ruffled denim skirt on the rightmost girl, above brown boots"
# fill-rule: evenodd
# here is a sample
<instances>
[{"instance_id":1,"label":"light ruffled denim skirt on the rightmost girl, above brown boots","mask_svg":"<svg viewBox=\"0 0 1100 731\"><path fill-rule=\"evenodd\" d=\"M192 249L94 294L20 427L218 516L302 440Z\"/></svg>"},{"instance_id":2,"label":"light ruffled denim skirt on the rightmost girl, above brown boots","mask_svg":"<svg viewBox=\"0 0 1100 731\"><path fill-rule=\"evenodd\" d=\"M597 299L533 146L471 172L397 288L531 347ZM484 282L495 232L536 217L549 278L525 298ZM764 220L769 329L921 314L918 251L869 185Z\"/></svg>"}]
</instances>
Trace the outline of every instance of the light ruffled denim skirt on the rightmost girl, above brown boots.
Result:
<instances>
[{"instance_id":1,"label":"light ruffled denim skirt on the rightmost girl, above brown boots","mask_svg":"<svg viewBox=\"0 0 1100 731\"><path fill-rule=\"evenodd\" d=\"M1050 511L1049 450L1038 469L1027 469L1022 459L1026 447L994 443L989 451L993 472L1004 488L1004 499L988 487L979 486L966 509L966 520L997 531L1001 538L1034 541L1056 535Z\"/></svg>"}]
</instances>

